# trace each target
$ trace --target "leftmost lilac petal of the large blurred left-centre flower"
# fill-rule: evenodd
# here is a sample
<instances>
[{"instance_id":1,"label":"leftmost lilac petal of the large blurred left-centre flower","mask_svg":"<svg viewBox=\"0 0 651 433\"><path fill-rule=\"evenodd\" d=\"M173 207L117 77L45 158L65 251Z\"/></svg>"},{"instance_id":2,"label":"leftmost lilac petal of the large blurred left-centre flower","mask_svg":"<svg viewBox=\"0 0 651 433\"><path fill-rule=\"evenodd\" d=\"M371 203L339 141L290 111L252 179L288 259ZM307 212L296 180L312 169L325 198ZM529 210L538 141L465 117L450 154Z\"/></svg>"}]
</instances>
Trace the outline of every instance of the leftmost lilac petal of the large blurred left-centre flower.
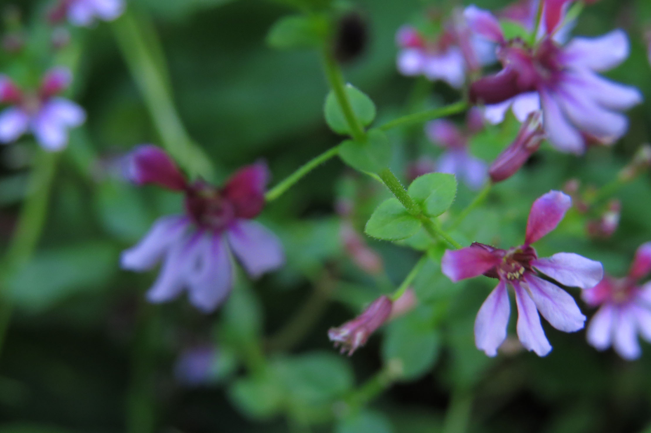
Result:
<instances>
[{"instance_id":1,"label":"leftmost lilac petal of the large blurred left-centre flower","mask_svg":"<svg viewBox=\"0 0 651 433\"><path fill-rule=\"evenodd\" d=\"M122 252L122 269L145 271L152 269L171 244L177 243L187 230L185 217L173 215L159 218L143 239Z\"/></svg>"}]
</instances>

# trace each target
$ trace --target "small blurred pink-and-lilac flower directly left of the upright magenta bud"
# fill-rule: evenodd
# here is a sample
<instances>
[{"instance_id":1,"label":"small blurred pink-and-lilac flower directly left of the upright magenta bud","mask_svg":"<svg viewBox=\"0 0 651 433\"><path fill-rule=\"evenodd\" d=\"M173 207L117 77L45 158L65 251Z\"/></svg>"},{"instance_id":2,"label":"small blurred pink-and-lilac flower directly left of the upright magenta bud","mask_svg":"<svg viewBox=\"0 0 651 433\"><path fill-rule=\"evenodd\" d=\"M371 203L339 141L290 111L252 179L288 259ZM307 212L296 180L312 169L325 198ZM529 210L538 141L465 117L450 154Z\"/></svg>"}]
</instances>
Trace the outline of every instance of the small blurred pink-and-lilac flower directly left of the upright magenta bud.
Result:
<instances>
[{"instance_id":1,"label":"small blurred pink-and-lilac flower directly left of the upright magenta bud","mask_svg":"<svg viewBox=\"0 0 651 433\"><path fill-rule=\"evenodd\" d=\"M436 171L464 179L471 189L479 189L487 179L486 163L468 151L468 139L484 126L483 122L477 121L477 116L480 117L477 109L468 111L465 133L449 120L432 120L425 125L425 133L430 140L445 149L436 163Z\"/></svg>"}]
</instances>

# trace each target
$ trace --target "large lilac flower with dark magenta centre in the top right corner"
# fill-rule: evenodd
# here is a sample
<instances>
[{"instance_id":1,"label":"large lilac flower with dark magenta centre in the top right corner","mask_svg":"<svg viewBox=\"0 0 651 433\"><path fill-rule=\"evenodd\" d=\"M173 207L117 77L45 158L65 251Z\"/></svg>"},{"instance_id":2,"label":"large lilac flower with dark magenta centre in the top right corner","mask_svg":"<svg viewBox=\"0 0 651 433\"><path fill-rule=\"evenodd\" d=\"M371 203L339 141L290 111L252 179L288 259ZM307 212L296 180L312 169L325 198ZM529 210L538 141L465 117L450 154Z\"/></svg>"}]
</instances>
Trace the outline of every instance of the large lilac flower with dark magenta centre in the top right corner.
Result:
<instances>
[{"instance_id":1,"label":"large lilac flower with dark magenta centre in the top right corner","mask_svg":"<svg viewBox=\"0 0 651 433\"><path fill-rule=\"evenodd\" d=\"M486 104L486 119L499 123L509 107L523 122L543 111L547 138L561 151L581 154L589 144L612 144L628 129L621 111L642 100L636 88L598 75L628 57L626 34L616 30L598 38L574 38L561 46L553 37L563 20L564 0L547 0L544 28L534 46L520 39L505 40L499 21L471 6L470 27L499 44L503 70L471 85L471 100Z\"/></svg>"}]
</instances>

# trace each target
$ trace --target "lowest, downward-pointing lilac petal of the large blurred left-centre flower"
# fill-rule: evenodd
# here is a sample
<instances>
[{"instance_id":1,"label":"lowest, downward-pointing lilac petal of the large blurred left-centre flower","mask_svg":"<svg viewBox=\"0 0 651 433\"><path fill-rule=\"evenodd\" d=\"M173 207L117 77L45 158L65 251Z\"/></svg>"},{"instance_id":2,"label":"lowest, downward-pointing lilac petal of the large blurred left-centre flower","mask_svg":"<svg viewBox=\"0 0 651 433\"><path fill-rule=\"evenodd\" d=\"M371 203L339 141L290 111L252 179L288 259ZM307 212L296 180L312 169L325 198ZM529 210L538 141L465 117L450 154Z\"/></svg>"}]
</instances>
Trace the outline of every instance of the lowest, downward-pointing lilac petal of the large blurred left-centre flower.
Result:
<instances>
[{"instance_id":1,"label":"lowest, downward-pointing lilac petal of the large blurred left-centre flower","mask_svg":"<svg viewBox=\"0 0 651 433\"><path fill-rule=\"evenodd\" d=\"M189 299L193 306L210 313L230 294L232 263L221 235L205 236L197 248L197 261L187 275Z\"/></svg>"}]
</instances>

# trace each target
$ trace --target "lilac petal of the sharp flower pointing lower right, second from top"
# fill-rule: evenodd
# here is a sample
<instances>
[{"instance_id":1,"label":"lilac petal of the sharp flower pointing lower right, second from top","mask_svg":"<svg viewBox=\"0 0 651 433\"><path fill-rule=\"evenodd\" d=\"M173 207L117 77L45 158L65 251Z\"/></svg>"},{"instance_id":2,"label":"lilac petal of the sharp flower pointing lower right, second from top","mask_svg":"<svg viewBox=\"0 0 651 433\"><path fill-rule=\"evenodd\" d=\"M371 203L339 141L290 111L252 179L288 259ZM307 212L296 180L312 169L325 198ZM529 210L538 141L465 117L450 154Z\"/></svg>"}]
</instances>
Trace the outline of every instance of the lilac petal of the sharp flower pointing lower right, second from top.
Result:
<instances>
[{"instance_id":1,"label":"lilac petal of the sharp flower pointing lower right, second from top","mask_svg":"<svg viewBox=\"0 0 651 433\"><path fill-rule=\"evenodd\" d=\"M536 276L525 274L529 293L536 308L551 326L563 332L583 329L585 316L569 293Z\"/></svg>"}]
</instances>

